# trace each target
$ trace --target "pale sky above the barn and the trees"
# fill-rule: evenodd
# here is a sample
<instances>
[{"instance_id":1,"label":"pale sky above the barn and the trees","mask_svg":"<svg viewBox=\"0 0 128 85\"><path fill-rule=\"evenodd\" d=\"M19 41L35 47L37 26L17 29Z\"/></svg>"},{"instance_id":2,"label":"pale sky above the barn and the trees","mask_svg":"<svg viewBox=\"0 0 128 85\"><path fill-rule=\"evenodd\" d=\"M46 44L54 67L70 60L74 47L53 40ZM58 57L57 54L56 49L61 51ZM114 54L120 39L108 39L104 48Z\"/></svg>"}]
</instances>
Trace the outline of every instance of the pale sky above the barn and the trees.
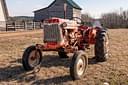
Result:
<instances>
[{"instance_id":1,"label":"pale sky above the barn and the trees","mask_svg":"<svg viewBox=\"0 0 128 85\"><path fill-rule=\"evenodd\" d=\"M33 11L47 7L54 0L6 0L11 16L33 16ZM128 0L74 0L92 17L100 17L102 13L128 9Z\"/></svg>"}]
</instances>

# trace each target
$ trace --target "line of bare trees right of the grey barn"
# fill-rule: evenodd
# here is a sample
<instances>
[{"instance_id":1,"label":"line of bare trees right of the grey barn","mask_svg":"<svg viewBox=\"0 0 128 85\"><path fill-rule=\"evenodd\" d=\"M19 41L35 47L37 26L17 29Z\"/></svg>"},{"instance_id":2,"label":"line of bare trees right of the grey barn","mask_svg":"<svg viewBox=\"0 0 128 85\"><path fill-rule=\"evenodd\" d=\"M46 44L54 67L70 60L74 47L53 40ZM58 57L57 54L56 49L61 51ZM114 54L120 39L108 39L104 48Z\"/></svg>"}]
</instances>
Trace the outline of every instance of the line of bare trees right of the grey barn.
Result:
<instances>
[{"instance_id":1,"label":"line of bare trees right of the grey barn","mask_svg":"<svg viewBox=\"0 0 128 85\"><path fill-rule=\"evenodd\" d=\"M82 20L85 22L92 22L95 20L89 14L82 14ZM101 15L98 19L102 25L107 28L128 28L128 10L120 12L110 12Z\"/></svg>"}]
</instances>

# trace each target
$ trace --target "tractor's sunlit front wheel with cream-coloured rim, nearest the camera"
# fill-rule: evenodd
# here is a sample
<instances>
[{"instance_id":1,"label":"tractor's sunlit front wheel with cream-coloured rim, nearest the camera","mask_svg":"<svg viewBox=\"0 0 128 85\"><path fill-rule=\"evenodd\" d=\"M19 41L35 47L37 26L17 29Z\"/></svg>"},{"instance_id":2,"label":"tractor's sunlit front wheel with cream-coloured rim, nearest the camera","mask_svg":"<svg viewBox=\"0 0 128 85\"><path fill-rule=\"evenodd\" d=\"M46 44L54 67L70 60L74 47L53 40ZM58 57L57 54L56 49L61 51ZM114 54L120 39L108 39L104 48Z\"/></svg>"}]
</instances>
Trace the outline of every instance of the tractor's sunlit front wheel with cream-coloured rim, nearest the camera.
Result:
<instances>
[{"instance_id":1,"label":"tractor's sunlit front wheel with cream-coloured rim, nearest the camera","mask_svg":"<svg viewBox=\"0 0 128 85\"><path fill-rule=\"evenodd\" d=\"M88 58L83 51L78 51L74 54L71 65L70 75L73 80L82 79L88 66Z\"/></svg>"}]
</instances>

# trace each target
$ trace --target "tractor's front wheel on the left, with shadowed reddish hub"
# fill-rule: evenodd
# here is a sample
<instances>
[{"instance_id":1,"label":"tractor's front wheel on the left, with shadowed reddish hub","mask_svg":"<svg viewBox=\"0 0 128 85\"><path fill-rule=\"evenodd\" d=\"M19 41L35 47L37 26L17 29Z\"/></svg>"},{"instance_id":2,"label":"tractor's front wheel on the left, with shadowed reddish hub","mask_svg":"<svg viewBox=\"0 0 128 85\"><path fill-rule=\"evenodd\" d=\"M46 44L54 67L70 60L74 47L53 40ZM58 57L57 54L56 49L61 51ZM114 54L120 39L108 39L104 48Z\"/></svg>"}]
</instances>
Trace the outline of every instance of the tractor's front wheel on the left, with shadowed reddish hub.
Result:
<instances>
[{"instance_id":1,"label":"tractor's front wheel on the left, with shadowed reddish hub","mask_svg":"<svg viewBox=\"0 0 128 85\"><path fill-rule=\"evenodd\" d=\"M41 64L42 52L35 46L28 47L23 54L22 64L26 71L33 70Z\"/></svg>"}]
</instances>

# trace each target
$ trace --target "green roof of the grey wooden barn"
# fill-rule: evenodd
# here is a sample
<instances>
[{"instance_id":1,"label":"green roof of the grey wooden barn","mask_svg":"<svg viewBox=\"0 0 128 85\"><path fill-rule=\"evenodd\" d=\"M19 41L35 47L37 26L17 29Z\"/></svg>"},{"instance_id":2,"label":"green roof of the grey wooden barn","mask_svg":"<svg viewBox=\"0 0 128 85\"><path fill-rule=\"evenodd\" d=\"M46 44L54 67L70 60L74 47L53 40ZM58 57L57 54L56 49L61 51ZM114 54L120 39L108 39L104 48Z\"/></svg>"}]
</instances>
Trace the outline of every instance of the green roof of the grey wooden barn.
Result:
<instances>
[{"instance_id":1,"label":"green roof of the grey wooden barn","mask_svg":"<svg viewBox=\"0 0 128 85\"><path fill-rule=\"evenodd\" d=\"M53 5L55 2L56 2L56 0L53 1L53 2L52 2L48 7L46 7L46 8L49 8L49 7L50 7L51 5ZM67 2L69 5L71 5L73 8L82 10L82 8L81 8L78 4L76 4L73 0L66 0L66 2ZM42 8L42 9L36 10L36 11L34 11L34 12L38 12L38 11L41 11L41 10L46 9L46 8Z\"/></svg>"}]
</instances>

